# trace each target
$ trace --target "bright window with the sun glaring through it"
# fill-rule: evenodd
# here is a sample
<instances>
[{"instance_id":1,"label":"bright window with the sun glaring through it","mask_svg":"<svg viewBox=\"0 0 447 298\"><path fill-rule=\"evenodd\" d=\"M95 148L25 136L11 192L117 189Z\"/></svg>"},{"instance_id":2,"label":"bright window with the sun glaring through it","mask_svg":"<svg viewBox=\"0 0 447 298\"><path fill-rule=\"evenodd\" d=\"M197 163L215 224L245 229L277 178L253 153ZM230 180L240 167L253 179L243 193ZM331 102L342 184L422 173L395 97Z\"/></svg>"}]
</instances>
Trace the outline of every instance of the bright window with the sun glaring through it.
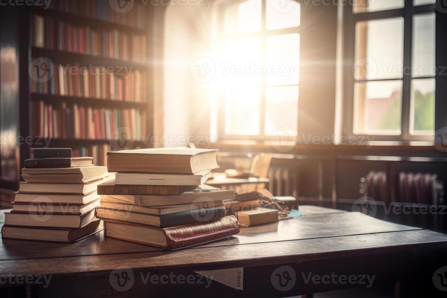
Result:
<instances>
[{"instance_id":1,"label":"bright window with the sun glaring through it","mask_svg":"<svg viewBox=\"0 0 447 298\"><path fill-rule=\"evenodd\" d=\"M230 4L230 2L232 2ZM297 134L300 4L227 1L219 22L219 138Z\"/></svg>"}]
</instances>

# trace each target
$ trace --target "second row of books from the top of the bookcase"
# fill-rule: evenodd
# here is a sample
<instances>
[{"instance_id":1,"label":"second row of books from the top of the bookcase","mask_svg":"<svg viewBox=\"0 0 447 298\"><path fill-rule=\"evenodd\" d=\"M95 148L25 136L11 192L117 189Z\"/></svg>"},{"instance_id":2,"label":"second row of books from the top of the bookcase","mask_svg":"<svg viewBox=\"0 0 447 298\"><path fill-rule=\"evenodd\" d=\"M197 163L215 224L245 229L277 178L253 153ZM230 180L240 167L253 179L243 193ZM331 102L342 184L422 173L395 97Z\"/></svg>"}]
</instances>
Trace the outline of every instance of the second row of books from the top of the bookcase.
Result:
<instances>
[{"instance_id":1,"label":"second row of books from the top of the bookcase","mask_svg":"<svg viewBox=\"0 0 447 298\"><path fill-rule=\"evenodd\" d=\"M111 59L147 60L147 36L117 29L75 26L53 17L33 15L33 46L102 56Z\"/></svg>"}]
</instances>

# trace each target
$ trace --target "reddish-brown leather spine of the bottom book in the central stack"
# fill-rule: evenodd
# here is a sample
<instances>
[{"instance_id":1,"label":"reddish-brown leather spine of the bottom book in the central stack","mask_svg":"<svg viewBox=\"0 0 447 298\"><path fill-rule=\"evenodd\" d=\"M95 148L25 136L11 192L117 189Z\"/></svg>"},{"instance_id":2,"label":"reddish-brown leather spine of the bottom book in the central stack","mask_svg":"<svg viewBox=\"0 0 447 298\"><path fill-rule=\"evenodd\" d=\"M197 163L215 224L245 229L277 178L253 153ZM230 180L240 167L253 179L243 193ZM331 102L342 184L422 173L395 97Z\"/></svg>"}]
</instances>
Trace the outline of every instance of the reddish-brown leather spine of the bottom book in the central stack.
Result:
<instances>
[{"instance_id":1,"label":"reddish-brown leather spine of the bottom book in the central stack","mask_svg":"<svg viewBox=\"0 0 447 298\"><path fill-rule=\"evenodd\" d=\"M162 229L166 235L164 249L173 250L207 243L239 234L239 222L234 216Z\"/></svg>"}]
</instances>

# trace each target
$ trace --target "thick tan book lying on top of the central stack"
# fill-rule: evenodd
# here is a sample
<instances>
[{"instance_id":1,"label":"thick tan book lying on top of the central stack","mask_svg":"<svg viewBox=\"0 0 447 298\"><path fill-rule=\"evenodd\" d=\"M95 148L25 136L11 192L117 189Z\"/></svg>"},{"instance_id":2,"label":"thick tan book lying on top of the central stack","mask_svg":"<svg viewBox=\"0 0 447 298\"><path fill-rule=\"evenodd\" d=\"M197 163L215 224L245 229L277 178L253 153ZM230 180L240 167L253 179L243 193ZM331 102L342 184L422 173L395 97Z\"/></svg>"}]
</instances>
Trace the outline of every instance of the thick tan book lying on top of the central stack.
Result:
<instances>
[{"instance_id":1,"label":"thick tan book lying on top of the central stack","mask_svg":"<svg viewBox=\"0 0 447 298\"><path fill-rule=\"evenodd\" d=\"M195 174L219 168L216 149L187 147L107 152L110 172Z\"/></svg>"}]
</instances>

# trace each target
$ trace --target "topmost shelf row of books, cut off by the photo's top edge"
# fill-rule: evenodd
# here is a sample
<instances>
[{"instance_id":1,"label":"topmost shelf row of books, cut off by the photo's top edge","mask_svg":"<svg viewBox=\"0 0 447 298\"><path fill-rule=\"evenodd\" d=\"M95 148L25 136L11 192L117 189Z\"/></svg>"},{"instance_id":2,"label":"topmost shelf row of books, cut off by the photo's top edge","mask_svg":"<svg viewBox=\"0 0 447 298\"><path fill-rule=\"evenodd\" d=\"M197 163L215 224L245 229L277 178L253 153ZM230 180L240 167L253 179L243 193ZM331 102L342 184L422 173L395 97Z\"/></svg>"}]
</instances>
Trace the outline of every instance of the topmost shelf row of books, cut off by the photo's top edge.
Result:
<instances>
[{"instance_id":1,"label":"topmost shelf row of books, cut off by the photo's top edge","mask_svg":"<svg viewBox=\"0 0 447 298\"><path fill-rule=\"evenodd\" d=\"M73 13L104 21L142 28L145 17L143 2L129 1L129 4L125 2L124 4L126 4L126 6L124 8L127 8L127 5L132 5L129 11L122 8L122 6L118 6L119 2L120 1L110 0L58 0L51 2L50 8L66 13Z\"/></svg>"}]
</instances>

